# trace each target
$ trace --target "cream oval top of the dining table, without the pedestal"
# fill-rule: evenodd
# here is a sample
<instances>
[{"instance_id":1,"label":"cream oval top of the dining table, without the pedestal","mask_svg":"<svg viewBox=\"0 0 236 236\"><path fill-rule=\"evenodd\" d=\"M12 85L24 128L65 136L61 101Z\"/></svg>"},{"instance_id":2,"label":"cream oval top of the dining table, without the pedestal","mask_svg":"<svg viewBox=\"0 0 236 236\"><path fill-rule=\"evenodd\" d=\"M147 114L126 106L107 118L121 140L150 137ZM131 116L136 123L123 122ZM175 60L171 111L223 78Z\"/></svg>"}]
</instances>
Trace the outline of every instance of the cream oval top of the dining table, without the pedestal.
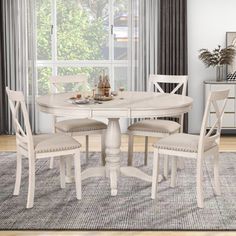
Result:
<instances>
[{"instance_id":1,"label":"cream oval top of the dining table, without the pedestal","mask_svg":"<svg viewBox=\"0 0 236 236\"><path fill-rule=\"evenodd\" d=\"M122 92L102 104L71 104L69 98L76 93L59 93L37 98L39 110L57 116L77 118L144 118L180 115L188 112L193 99L177 94L154 92Z\"/></svg>"}]
</instances>

